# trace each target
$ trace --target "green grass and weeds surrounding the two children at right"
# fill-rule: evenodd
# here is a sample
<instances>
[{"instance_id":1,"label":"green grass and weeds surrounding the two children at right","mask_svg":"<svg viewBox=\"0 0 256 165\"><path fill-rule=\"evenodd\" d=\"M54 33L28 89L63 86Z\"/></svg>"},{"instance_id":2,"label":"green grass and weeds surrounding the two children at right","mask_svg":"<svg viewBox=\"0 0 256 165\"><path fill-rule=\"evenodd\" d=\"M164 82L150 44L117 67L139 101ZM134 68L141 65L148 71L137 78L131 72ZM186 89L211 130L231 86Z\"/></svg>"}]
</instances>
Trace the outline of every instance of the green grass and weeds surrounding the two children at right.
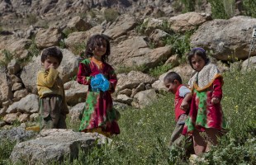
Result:
<instances>
[{"instance_id":1,"label":"green grass and weeds surrounding the two children at right","mask_svg":"<svg viewBox=\"0 0 256 165\"><path fill-rule=\"evenodd\" d=\"M197 164L256 163L255 73L224 74L221 103L229 131L217 147L202 156L206 161ZM145 109L121 111L118 122L121 134L113 137L110 145L80 151L73 164L188 164L183 148L168 148L175 126L173 94L164 92L163 97ZM78 130L78 124L69 125L69 128ZM72 163L65 161L64 164Z\"/></svg>"}]
</instances>

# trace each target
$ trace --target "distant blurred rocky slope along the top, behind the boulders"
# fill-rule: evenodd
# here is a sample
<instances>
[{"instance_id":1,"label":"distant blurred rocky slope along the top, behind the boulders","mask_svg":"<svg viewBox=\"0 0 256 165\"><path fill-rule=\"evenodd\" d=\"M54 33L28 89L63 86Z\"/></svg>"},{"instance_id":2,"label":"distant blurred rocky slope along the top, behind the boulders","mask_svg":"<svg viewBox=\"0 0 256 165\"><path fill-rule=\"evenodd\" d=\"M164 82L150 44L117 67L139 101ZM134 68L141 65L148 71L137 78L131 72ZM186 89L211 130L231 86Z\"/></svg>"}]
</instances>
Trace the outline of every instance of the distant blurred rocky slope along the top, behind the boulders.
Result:
<instances>
[{"instance_id":1,"label":"distant blurred rocky slope along the top, behind the boulders","mask_svg":"<svg viewBox=\"0 0 256 165\"><path fill-rule=\"evenodd\" d=\"M64 26L73 16L83 16L96 25L104 21L107 8L119 15L130 13L136 17L175 16L182 12L182 3L170 0L1 0L0 26L6 31L18 31L27 26ZM201 12L209 12L209 4L200 3ZM199 11L199 9L198 9Z\"/></svg>"}]
</instances>

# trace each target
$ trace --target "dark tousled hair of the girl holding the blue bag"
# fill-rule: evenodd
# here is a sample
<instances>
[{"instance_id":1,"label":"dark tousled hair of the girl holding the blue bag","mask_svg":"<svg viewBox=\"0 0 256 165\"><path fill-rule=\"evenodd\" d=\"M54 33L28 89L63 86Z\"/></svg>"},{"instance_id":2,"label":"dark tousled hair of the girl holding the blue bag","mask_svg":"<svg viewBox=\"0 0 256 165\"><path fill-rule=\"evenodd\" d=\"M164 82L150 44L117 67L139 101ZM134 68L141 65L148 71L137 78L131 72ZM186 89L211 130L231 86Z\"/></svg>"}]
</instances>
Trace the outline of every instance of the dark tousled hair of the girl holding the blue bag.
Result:
<instances>
[{"instance_id":1,"label":"dark tousled hair of the girl holding the blue bag","mask_svg":"<svg viewBox=\"0 0 256 165\"><path fill-rule=\"evenodd\" d=\"M110 55L110 42L109 42L109 37L107 35L92 35L91 38L89 38L87 45L86 45L86 50L84 56L86 58L92 57L93 56L93 50L99 45L102 45L102 41L106 40L106 53L102 55L102 62L107 61L107 57Z\"/></svg>"}]
</instances>

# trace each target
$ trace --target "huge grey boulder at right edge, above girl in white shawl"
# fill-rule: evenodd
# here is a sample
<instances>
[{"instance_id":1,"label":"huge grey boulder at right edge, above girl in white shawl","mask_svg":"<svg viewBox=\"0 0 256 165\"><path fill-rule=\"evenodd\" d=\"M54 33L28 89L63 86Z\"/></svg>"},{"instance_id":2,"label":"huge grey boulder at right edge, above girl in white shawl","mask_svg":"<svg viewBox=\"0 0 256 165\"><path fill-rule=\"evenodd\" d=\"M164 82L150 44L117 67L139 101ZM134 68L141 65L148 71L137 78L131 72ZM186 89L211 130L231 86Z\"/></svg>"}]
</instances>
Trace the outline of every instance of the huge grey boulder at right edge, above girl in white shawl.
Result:
<instances>
[{"instance_id":1,"label":"huge grey boulder at right edge, above girl in white shawl","mask_svg":"<svg viewBox=\"0 0 256 165\"><path fill-rule=\"evenodd\" d=\"M220 60L247 59L256 18L235 16L229 20L206 21L192 35L191 45L209 50ZM256 55L254 49L251 53Z\"/></svg>"}]
</instances>

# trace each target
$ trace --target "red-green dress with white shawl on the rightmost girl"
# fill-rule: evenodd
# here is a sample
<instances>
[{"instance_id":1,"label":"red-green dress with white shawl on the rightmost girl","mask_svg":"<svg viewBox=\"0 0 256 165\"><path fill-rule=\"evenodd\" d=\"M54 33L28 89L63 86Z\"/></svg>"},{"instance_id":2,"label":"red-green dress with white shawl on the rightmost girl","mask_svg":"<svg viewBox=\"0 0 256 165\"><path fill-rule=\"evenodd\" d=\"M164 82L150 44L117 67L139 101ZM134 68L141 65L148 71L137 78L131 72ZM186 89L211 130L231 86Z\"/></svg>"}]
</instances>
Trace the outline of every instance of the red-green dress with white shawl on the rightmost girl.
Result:
<instances>
[{"instance_id":1,"label":"red-green dress with white shawl on the rightmost girl","mask_svg":"<svg viewBox=\"0 0 256 165\"><path fill-rule=\"evenodd\" d=\"M192 88L192 103L183 134L192 134L193 130L225 129L224 115L220 102L212 104L212 97L221 100L223 78L214 64L206 64L200 72L188 82Z\"/></svg>"}]
</instances>

